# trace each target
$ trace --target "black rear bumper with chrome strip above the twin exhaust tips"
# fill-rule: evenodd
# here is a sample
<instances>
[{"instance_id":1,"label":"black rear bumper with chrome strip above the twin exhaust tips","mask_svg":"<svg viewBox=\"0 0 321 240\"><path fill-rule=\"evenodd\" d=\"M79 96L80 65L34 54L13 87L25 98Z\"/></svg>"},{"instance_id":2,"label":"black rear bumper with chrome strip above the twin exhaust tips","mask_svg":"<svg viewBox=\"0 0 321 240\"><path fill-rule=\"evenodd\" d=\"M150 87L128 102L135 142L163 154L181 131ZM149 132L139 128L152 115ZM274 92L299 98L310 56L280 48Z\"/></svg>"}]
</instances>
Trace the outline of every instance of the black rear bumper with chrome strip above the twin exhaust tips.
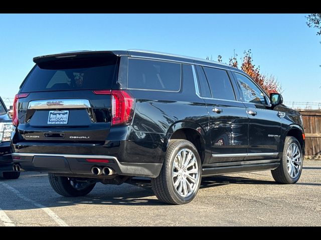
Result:
<instances>
[{"instance_id":1,"label":"black rear bumper with chrome strip above the twin exhaust tips","mask_svg":"<svg viewBox=\"0 0 321 240\"><path fill-rule=\"evenodd\" d=\"M13 153L12 155L14 162L19 163L24 170L81 174L88 177L97 177L91 172L93 166L108 166L118 175L156 177L163 165L162 163L120 162L117 157L107 155L48 153ZM108 162L92 162L93 159L103 159Z\"/></svg>"}]
</instances>

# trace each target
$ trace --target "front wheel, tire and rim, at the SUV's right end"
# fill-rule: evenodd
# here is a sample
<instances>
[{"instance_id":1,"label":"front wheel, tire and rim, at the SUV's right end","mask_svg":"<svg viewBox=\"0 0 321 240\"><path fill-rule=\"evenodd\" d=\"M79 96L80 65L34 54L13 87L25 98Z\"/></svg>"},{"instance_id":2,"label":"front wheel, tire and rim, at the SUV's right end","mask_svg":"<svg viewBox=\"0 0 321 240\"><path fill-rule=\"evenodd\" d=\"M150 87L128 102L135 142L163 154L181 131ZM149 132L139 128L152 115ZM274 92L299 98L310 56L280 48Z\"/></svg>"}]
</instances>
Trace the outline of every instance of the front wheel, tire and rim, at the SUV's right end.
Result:
<instances>
[{"instance_id":1,"label":"front wheel, tire and rim, at the SUV's right end","mask_svg":"<svg viewBox=\"0 0 321 240\"><path fill-rule=\"evenodd\" d=\"M287 136L280 165L271 170L276 182L291 184L298 181L302 172L303 152L300 143L293 136Z\"/></svg>"}]
</instances>

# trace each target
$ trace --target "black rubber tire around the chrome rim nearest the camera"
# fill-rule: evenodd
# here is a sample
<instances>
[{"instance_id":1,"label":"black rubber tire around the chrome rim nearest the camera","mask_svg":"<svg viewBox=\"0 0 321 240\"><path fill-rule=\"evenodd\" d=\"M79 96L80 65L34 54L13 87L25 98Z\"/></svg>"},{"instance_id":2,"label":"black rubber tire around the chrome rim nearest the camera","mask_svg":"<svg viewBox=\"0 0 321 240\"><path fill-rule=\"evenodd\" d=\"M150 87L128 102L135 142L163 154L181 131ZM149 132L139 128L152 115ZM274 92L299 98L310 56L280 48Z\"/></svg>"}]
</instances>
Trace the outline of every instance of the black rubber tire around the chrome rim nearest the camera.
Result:
<instances>
[{"instance_id":1,"label":"black rubber tire around the chrome rim nearest the camera","mask_svg":"<svg viewBox=\"0 0 321 240\"><path fill-rule=\"evenodd\" d=\"M188 149L189 151L192 151L195 155L196 162L195 165L191 166L191 168L186 169L194 169L196 164L198 167L197 173L195 173L196 176L196 182L193 184L193 190L189 187L191 190L190 195L182 196L178 193L178 190L174 186L174 177L173 177L173 169L174 169L174 161L177 156L177 154L183 150ZM185 155L186 156L186 155ZM193 159L193 158L191 158ZM184 173L184 172L183 172ZM180 174L183 174L182 172ZM184 173L185 179L187 174ZM178 176L183 178L183 175ZM198 189L201 184L201 177L202 177L202 164L201 164L201 158L200 155L196 149L196 147L188 140L184 139L175 139L171 140L169 143L169 147L166 152L165 160L163 163L163 167L161 169L161 172L156 178L151 178L151 187L156 195L156 197L166 203L170 204L185 204L194 199L196 196ZM176 178L176 180L179 180ZM181 181L182 182L182 181ZM179 183L179 185L183 185L183 183ZM185 190L188 189L187 185L185 185Z\"/></svg>"}]
</instances>

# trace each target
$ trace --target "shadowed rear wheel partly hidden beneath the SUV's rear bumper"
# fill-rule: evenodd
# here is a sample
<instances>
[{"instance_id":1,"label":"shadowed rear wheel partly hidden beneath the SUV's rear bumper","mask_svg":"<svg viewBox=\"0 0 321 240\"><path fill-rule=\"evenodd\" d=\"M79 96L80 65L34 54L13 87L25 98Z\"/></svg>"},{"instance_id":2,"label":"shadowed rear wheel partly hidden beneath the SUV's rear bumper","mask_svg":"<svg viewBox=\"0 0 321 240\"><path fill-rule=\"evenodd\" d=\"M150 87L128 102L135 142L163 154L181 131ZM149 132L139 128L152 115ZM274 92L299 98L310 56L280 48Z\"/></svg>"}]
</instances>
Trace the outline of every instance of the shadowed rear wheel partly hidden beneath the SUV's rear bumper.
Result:
<instances>
[{"instance_id":1,"label":"shadowed rear wheel partly hidden beneath the SUV's rear bumper","mask_svg":"<svg viewBox=\"0 0 321 240\"><path fill-rule=\"evenodd\" d=\"M48 178L52 188L62 196L85 196L96 184L91 179L56 176L53 173L48 173Z\"/></svg>"}]
</instances>

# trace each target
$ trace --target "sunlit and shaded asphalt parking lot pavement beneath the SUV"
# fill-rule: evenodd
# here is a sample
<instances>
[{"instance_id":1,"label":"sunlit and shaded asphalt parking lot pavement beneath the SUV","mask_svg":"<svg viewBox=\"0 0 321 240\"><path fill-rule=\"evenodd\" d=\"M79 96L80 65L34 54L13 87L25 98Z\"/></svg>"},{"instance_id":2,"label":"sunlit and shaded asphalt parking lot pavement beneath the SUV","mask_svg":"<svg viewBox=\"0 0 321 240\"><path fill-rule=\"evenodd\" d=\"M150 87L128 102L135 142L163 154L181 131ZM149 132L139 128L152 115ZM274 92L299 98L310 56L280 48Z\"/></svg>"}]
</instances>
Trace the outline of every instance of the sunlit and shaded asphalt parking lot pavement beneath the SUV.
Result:
<instances>
[{"instance_id":1,"label":"sunlit and shaded asphalt parking lot pavement beneath the SUV","mask_svg":"<svg viewBox=\"0 0 321 240\"><path fill-rule=\"evenodd\" d=\"M0 226L320 226L321 160L305 160L296 184L277 184L270 171L203 178L189 204L169 205L150 189L103 185L64 197L47 173L0 177Z\"/></svg>"}]
</instances>

